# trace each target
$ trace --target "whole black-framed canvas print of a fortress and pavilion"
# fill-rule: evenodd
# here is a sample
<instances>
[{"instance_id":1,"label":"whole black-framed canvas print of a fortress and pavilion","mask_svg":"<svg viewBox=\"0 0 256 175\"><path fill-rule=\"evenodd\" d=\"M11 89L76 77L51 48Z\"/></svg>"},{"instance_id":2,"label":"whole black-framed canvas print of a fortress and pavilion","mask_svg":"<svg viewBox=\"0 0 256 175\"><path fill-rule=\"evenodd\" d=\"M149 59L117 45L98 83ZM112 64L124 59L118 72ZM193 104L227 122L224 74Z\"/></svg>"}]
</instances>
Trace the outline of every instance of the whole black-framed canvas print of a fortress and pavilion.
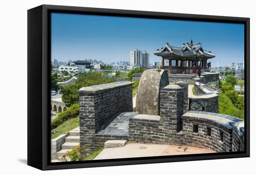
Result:
<instances>
[{"instance_id":1,"label":"whole black-framed canvas print of a fortress and pavilion","mask_svg":"<svg viewBox=\"0 0 256 175\"><path fill-rule=\"evenodd\" d=\"M249 156L249 19L28 10L28 165Z\"/></svg>"}]
</instances>

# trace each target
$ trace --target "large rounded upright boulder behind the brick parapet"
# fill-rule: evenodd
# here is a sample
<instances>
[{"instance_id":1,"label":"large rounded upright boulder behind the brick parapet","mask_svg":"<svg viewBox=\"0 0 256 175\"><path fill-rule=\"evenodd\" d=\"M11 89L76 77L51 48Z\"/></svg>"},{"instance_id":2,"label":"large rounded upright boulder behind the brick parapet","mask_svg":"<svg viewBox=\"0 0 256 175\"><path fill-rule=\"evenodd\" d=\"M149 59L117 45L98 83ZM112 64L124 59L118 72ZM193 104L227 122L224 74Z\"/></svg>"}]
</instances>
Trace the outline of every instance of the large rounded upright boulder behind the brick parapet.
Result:
<instances>
[{"instance_id":1,"label":"large rounded upright boulder behind the brick parapet","mask_svg":"<svg viewBox=\"0 0 256 175\"><path fill-rule=\"evenodd\" d=\"M136 97L136 113L159 115L160 88L169 85L168 73L162 69L147 69L142 75Z\"/></svg>"}]
</instances>

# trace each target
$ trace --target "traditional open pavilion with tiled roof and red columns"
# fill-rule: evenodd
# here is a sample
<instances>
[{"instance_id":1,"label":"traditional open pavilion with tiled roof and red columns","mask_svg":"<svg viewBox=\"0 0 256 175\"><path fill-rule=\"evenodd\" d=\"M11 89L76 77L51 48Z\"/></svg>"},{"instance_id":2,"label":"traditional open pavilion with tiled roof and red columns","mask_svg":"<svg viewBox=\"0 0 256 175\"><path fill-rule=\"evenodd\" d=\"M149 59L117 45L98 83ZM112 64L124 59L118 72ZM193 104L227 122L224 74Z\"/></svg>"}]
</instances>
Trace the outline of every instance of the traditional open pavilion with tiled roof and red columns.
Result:
<instances>
[{"instance_id":1,"label":"traditional open pavilion with tiled roof and red columns","mask_svg":"<svg viewBox=\"0 0 256 175\"><path fill-rule=\"evenodd\" d=\"M162 56L162 69L168 70L168 74L196 74L201 61L201 70L209 69L207 60L214 58L211 51L202 49L202 44L182 44L181 47L171 46L168 43L155 51L154 55ZM173 65L172 65L173 64Z\"/></svg>"}]
</instances>

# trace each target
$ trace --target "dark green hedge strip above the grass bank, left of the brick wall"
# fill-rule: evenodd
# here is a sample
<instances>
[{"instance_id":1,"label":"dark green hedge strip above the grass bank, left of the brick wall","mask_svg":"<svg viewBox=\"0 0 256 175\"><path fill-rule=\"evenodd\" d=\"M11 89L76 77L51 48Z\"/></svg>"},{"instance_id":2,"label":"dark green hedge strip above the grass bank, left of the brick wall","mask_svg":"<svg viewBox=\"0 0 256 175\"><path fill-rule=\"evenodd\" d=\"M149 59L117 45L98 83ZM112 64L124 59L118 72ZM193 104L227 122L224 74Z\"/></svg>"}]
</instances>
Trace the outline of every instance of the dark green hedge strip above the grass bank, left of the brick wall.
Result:
<instances>
[{"instance_id":1,"label":"dark green hedge strip above the grass bank, left of the brick wall","mask_svg":"<svg viewBox=\"0 0 256 175\"><path fill-rule=\"evenodd\" d=\"M66 111L58 113L57 117L51 122L51 129L56 128L67 119L75 118L79 115L79 104L73 104Z\"/></svg>"}]
</instances>

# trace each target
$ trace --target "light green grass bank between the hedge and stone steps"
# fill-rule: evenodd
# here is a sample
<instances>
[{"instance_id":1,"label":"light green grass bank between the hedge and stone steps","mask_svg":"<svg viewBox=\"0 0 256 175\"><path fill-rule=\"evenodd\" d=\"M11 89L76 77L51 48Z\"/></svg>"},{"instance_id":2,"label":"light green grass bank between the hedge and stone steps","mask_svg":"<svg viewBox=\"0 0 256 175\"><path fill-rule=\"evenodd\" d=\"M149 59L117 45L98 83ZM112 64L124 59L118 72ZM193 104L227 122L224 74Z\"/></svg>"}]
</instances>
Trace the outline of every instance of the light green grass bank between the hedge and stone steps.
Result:
<instances>
[{"instance_id":1,"label":"light green grass bank between the hedge and stone steps","mask_svg":"<svg viewBox=\"0 0 256 175\"><path fill-rule=\"evenodd\" d=\"M52 139L59 137L61 134L66 134L68 131L73 130L79 126L79 116L71 119L67 119L61 125L57 126L53 130L56 131L55 134L51 133Z\"/></svg>"}]
</instances>

